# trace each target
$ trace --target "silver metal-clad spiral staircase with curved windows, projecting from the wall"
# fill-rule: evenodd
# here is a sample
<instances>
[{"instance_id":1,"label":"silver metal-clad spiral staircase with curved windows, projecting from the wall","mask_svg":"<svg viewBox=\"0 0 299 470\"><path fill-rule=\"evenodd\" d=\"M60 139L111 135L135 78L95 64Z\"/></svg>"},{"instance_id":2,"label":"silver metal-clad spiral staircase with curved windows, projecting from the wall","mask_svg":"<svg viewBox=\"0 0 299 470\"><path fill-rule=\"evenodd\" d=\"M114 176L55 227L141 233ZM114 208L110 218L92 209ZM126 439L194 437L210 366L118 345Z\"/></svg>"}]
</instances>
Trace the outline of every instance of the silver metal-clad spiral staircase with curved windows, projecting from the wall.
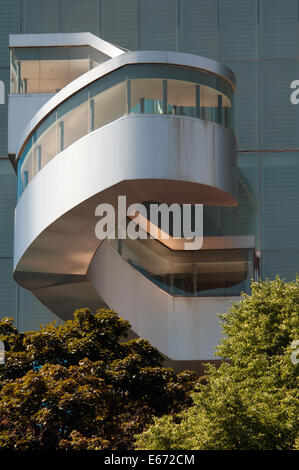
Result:
<instances>
[{"instance_id":1,"label":"silver metal-clad spiral staircase with curved windows, projecting from the wall","mask_svg":"<svg viewBox=\"0 0 299 470\"><path fill-rule=\"evenodd\" d=\"M117 214L120 195L127 205L236 205L226 87L234 92L233 74L217 62L122 52L50 98L16 150L15 280L64 320L75 308L109 306L170 359L215 359L217 314L239 295L219 291L215 272L233 262L228 284L246 279L243 251L253 248L250 237L207 238L196 253L175 252L157 240L129 241L124 256L117 240L96 236L95 213L109 203ZM124 222L119 217L116 226ZM190 266L197 279L192 288Z\"/></svg>"}]
</instances>

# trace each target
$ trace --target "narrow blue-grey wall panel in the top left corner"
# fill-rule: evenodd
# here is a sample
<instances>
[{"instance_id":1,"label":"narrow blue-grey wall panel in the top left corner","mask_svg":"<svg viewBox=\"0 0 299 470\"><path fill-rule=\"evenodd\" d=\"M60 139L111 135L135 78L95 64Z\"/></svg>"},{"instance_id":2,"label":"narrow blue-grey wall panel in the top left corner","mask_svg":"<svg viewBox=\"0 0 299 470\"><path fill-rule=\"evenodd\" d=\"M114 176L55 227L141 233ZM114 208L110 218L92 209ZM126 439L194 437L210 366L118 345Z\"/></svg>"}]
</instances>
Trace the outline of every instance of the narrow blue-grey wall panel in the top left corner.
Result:
<instances>
[{"instance_id":1,"label":"narrow blue-grey wall panel in the top left corner","mask_svg":"<svg viewBox=\"0 0 299 470\"><path fill-rule=\"evenodd\" d=\"M20 0L1 0L0 9L0 67L9 67L8 35L20 32Z\"/></svg>"}]
</instances>

